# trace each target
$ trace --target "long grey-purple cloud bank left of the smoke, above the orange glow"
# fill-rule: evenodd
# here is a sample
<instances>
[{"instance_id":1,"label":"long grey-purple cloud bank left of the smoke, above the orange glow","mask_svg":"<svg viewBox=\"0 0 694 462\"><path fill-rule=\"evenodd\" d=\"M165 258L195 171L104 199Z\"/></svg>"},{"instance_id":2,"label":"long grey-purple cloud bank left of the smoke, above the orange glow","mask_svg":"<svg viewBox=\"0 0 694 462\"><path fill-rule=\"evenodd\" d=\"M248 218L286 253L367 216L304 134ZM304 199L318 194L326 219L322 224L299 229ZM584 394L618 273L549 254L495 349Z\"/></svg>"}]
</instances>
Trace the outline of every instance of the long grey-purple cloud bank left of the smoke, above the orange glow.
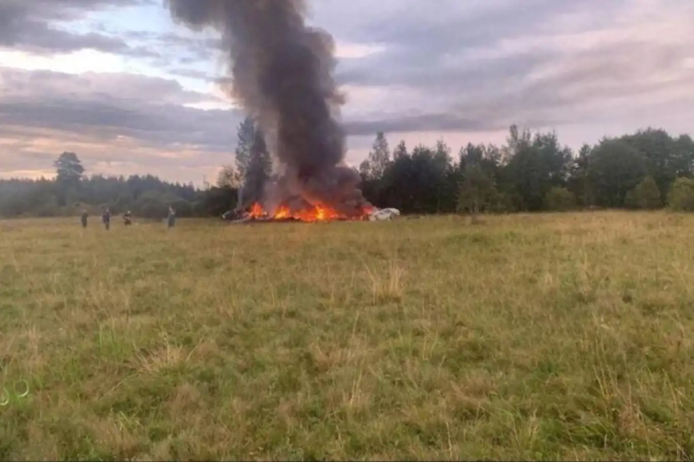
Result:
<instances>
[{"instance_id":1,"label":"long grey-purple cloud bank left of the smoke, above the orange glow","mask_svg":"<svg viewBox=\"0 0 694 462\"><path fill-rule=\"evenodd\" d=\"M184 144L221 152L235 141L237 112L186 107L205 98L171 80L7 68L0 68L0 77L0 137L22 140L22 131L62 130L101 140L132 137L158 148Z\"/></svg>"}]
</instances>

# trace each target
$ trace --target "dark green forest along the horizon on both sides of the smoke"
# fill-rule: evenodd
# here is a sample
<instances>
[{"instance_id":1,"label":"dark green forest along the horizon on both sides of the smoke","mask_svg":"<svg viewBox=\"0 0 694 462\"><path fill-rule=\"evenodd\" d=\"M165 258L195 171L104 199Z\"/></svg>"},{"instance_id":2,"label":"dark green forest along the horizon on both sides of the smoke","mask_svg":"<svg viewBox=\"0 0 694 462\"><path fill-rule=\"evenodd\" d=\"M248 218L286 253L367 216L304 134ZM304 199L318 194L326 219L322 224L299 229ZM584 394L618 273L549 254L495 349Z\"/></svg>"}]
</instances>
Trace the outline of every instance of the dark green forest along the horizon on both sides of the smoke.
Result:
<instances>
[{"instance_id":1,"label":"dark green forest along the horizon on both sides of the smoke","mask_svg":"<svg viewBox=\"0 0 694 462\"><path fill-rule=\"evenodd\" d=\"M76 153L58 156L56 178L0 180L0 216L71 216L83 208L158 219L173 205L179 216L220 216L236 206L237 188L269 178L271 162L262 132L251 119L239 125L235 162L217 184L200 189L160 180L87 176ZM376 135L359 166L364 196L403 214L508 213L584 208L694 211L694 141L665 130L584 144L577 153L555 132L519 131L507 142L467 144L457 153L441 139L435 146L391 148ZM245 179L245 180L244 180Z\"/></svg>"}]
</instances>

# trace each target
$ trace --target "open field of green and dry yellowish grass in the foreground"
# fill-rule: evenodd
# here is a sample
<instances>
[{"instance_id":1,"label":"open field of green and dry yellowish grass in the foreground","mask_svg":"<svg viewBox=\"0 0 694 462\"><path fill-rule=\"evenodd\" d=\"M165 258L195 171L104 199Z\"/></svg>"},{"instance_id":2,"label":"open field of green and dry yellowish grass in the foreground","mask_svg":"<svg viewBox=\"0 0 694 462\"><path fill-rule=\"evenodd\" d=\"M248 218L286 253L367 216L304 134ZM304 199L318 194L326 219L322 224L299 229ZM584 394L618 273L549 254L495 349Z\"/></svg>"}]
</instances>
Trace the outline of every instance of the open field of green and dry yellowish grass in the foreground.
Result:
<instances>
[{"instance_id":1,"label":"open field of green and dry yellowish grass in the foreground","mask_svg":"<svg viewBox=\"0 0 694 462\"><path fill-rule=\"evenodd\" d=\"M694 458L694 216L96 221L0 221L0 459Z\"/></svg>"}]
</instances>

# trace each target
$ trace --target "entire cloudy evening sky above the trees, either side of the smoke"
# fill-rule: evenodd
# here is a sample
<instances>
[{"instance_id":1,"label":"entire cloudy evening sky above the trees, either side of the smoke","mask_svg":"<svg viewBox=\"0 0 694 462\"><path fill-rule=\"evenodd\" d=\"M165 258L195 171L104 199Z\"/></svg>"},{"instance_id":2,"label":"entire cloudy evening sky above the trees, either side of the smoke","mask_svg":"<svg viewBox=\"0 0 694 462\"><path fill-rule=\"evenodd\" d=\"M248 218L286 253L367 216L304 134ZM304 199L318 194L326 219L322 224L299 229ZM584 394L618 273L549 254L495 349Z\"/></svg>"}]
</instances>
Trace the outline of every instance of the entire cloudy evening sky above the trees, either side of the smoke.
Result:
<instances>
[{"instance_id":1,"label":"entire cloudy evening sky above the trees, either side of the smoke","mask_svg":"<svg viewBox=\"0 0 694 462\"><path fill-rule=\"evenodd\" d=\"M513 122L574 147L694 134L691 0L314 0L310 22L337 42L353 164L377 130L456 151ZM74 151L90 173L213 181L243 115L216 39L162 0L0 0L0 177Z\"/></svg>"}]
</instances>

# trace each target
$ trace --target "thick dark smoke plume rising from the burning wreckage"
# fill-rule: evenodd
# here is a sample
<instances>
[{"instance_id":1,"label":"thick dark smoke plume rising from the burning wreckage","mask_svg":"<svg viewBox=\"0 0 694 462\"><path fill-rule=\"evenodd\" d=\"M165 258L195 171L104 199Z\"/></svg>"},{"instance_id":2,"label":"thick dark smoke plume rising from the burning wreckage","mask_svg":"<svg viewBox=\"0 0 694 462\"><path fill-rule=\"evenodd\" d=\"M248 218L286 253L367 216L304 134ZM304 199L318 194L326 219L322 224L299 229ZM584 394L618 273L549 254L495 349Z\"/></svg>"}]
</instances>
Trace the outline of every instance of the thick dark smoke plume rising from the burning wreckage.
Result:
<instances>
[{"instance_id":1,"label":"thick dark smoke plume rising from the burning wreckage","mask_svg":"<svg viewBox=\"0 0 694 462\"><path fill-rule=\"evenodd\" d=\"M221 33L232 77L230 96L265 133L279 161L266 189L269 206L296 196L357 214L367 205L359 175L343 164L345 133L337 121L344 99L332 77L330 34L305 24L301 0L168 0L190 28Z\"/></svg>"}]
</instances>

